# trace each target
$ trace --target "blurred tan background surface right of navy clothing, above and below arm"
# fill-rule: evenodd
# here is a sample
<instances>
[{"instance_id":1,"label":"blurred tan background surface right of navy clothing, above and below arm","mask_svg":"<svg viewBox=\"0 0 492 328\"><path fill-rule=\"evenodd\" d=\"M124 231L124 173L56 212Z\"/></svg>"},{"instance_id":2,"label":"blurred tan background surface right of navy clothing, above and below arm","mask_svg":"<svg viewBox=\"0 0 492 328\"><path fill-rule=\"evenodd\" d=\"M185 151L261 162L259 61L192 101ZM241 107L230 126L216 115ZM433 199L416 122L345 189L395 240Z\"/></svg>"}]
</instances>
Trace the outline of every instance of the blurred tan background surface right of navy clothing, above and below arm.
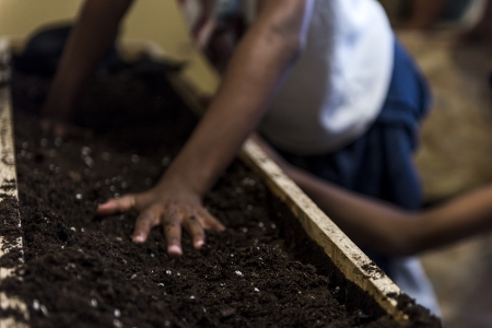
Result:
<instances>
[{"instance_id":1,"label":"blurred tan background surface right of navy clothing, above and below arm","mask_svg":"<svg viewBox=\"0 0 492 328\"><path fill-rule=\"evenodd\" d=\"M426 200L448 199L492 183L492 54L464 46L448 32L399 37L434 93L415 156ZM424 254L422 261L445 327L492 327L492 233Z\"/></svg>"}]
</instances>

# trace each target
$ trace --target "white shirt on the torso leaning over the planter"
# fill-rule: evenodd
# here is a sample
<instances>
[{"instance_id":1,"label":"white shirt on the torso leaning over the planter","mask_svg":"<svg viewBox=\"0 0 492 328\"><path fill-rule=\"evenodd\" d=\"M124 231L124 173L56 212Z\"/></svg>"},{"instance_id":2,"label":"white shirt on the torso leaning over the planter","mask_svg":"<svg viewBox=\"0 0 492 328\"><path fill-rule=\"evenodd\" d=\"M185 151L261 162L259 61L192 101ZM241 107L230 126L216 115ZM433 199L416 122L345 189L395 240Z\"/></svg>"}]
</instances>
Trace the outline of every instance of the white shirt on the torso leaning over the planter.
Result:
<instances>
[{"instance_id":1,"label":"white shirt on the torso leaning over the planter","mask_svg":"<svg viewBox=\"0 0 492 328\"><path fill-rule=\"evenodd\" d=\"M362 136L390 83L394 34L375 0L315 0L305 48L260 131L280 149L331 152Z\"/></svg>"}]
</instances>

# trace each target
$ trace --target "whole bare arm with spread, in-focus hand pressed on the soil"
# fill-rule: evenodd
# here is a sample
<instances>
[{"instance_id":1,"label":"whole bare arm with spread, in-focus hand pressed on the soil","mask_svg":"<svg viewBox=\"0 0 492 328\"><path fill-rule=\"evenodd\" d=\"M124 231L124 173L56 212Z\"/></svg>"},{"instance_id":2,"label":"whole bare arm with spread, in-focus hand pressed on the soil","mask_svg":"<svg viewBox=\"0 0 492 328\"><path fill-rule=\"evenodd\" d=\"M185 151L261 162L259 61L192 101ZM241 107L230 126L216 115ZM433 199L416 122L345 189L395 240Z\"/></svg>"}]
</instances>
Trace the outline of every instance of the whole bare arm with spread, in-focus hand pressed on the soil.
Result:
<instances>
[{"instance_id":1,"label":"whole bare arm with spread, in-focus hand pressed on the soil","mask_svg":"<svg viewBox=\"0 0 492 328\"><path fill-rule=\"evenodd\" d=\"M266 112L300 54L313 0L261 1L254 25L235 50L222 84L197 129L156 187L102 204L101 214L140 212L134 242L163 225L171 255L180 255L181 226L200 248L203 229L224 229L201 198Z\"/></svg>"}]
</instances>

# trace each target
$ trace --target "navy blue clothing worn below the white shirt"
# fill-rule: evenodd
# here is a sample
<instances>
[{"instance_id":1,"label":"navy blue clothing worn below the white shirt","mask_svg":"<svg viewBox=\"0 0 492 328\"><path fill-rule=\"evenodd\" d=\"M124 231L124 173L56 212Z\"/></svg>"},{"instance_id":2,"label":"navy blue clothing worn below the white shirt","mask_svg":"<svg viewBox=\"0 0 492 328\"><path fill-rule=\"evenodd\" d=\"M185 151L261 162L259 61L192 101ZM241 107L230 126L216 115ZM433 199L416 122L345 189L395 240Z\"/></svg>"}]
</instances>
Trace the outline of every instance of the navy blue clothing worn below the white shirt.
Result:
<instances>
[{"instance_id":1,"label":"navy blue clothing worn below the white shirt","mask_svg":"<svg viewBox=\"0 0 492 328\"><path fill-rule=\"evenodd\" d=\"M279 152L292 164L347 189L417 210L422 192L412 152L418 145L419 122L429 107L426 82L412 58L396 42L386 102L364 136L328 154L300 156ZM363 250L387 272L388 258Z\"/></svg>"}]
</instances>

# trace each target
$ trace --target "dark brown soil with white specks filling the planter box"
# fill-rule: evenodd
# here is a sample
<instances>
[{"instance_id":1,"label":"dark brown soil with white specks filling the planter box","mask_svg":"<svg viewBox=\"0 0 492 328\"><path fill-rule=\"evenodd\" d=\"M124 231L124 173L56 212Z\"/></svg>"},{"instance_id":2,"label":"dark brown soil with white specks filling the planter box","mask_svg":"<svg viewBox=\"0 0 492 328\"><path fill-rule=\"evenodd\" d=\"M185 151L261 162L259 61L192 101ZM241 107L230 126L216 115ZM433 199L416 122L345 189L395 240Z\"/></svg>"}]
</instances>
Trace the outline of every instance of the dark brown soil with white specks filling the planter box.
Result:
<instances>
[{"instance_id":1,"label":"dark brown soil with white specks filling the planter box","mask_svg":"<svg viewBox=\"0 0 492 328\"><path fill-rule=\"evenodd\" d=\"M227 230L209 232L201 251L185 237L184 256L171 259L159 229L131 243L136 213L95 216L107 198L155 184L196 122L167 85L149 81L99 77L77 118L97 133L61 140L43 136L33 115L47 82L14 75L25 265L0 290L28 305L32 327L398 326L237 161L204 199ZM410 327L441 327L401 304Z\"/></svg>"}]
</instances>

